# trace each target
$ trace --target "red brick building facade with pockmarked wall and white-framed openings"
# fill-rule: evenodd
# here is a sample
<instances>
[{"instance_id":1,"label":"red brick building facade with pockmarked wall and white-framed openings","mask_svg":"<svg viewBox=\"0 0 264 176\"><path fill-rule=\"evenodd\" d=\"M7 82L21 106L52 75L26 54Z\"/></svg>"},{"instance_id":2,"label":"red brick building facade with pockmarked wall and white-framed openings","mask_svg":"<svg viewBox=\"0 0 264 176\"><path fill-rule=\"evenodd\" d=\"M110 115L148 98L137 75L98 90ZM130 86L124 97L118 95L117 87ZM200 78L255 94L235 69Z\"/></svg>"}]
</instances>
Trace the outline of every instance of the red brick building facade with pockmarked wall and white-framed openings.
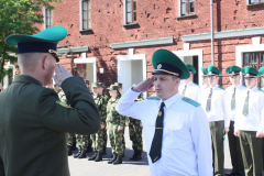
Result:
<instances>
[{"instance_id":1,"label":"red brick building facade with pockmarked wall and white-framed openings","mask_svg":"<svg viewBox=\"0 0 264 176\"><path fill-rule=\"evenodd\" d=\"M226 68L263 65L264 0L215 0L215 65L229 84ZM151 76L158 48L177 54L199 70L211 64L209 0L63 0L45 10L44 30L63 25L67 37L58 45L61 63L74 75L107 86L132 84Z\"/></svg>"}]
</instances>

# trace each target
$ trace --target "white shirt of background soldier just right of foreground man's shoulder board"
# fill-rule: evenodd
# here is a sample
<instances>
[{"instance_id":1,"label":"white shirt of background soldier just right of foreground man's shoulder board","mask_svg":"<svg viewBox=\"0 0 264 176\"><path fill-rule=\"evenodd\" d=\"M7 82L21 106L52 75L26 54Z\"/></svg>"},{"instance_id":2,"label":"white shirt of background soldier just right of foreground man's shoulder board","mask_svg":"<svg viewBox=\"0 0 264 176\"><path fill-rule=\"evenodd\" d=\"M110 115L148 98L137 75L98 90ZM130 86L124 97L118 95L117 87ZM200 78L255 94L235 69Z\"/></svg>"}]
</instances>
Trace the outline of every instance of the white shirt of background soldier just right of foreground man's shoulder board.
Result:
<instances>
[{"instance_id":1,"label":"white shirt of background soldier just right of foreground man's shoulder board","mask_svg":"<svg viewBox=\"0 0 264 176\"><path fill-rule=\"evenodd\" d=\"M208 121L215 122L215 121L224 121L224 128L229 128L230 120L227 112L227 103L226 103L226 94L224 89L220 88L219 85L216 85L213 87L208 87L202 91L201 95L201 107L206 111L207 107L207 99L210 94L210 89L212 88L212 95L211 95L211 108L208 112L206 112Z\"/></svg>"}]
</instances>

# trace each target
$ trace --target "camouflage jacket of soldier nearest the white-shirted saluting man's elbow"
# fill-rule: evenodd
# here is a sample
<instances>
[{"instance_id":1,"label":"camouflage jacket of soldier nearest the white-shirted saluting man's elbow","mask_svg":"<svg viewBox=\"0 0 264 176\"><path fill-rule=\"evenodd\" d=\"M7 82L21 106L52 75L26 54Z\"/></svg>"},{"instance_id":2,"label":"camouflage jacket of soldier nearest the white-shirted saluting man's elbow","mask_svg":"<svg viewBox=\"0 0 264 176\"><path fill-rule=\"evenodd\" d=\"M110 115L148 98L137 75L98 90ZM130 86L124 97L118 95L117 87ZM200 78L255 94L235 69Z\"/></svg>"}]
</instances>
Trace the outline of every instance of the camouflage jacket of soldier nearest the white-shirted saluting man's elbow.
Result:
<instances>
[{"instance_id":1,"label":"camouflage jacket of soldier nearest the white-shirted saluting man's elbow","mask_svg":"<svg viewBox=\"0 0 264 176\"><path fill-rule=\"evenodd\" d=\"M116 110L116 107L117 107L119 100L120 100L120 97L117 97L116 100L112 101L112 99L110 98L110 100L108 101L108 105L107 105L107 123L113 123L113 124L118 124L120 127L124 127L125 117L120 114Z\"/></svg>"}]
</instances>

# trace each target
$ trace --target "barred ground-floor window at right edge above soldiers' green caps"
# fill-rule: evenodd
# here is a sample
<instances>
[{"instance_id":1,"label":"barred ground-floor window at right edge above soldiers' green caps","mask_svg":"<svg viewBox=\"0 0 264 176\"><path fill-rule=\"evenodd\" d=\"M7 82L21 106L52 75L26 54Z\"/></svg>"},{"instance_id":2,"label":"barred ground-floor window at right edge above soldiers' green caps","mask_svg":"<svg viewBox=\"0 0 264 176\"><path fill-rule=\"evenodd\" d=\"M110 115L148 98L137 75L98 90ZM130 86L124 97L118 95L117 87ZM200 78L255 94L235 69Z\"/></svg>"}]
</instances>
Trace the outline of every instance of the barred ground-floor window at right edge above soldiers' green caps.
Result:
<instances>
[{"instance_id":1,"label":"barred ground-floor window at right edge above soldiers' green caps","mask_svg":"<svg viewBox=\"0 0 264 176\"><path fill-rule=\"evenodd\" d=\"M244 53L243 54L243 67L252 66L256 70L258 70L262 66L264 66L264 52L256 53ZM261 77L257 78L257 86L263 87L264 82L262 82Z\"/></svg>"}]
</instances>

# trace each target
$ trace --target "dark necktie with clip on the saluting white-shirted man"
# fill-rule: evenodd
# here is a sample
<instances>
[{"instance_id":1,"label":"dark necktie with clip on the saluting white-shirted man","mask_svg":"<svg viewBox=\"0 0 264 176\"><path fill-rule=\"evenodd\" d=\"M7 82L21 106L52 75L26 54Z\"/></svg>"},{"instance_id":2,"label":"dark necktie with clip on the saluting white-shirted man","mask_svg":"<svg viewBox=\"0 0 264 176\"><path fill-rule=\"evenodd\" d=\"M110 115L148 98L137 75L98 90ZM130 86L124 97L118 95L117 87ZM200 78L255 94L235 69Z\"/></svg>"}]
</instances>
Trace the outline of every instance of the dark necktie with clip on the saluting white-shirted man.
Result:
<instances>
[{"instance_id":1,"label":"dark necktie with clip on the saluting white-shirted man","mask_svg":"<svg viewBox=\"0 0 264 176\"><path fill-rule=\"evenodd\" d=\"M163 119L164 119L163 107L165 107L164 102L162 102L157 118L156 118L155 134L152 140L152 146L150 151L152 163L155 163L162 157Z\"/></svg>"}]
</instances>

